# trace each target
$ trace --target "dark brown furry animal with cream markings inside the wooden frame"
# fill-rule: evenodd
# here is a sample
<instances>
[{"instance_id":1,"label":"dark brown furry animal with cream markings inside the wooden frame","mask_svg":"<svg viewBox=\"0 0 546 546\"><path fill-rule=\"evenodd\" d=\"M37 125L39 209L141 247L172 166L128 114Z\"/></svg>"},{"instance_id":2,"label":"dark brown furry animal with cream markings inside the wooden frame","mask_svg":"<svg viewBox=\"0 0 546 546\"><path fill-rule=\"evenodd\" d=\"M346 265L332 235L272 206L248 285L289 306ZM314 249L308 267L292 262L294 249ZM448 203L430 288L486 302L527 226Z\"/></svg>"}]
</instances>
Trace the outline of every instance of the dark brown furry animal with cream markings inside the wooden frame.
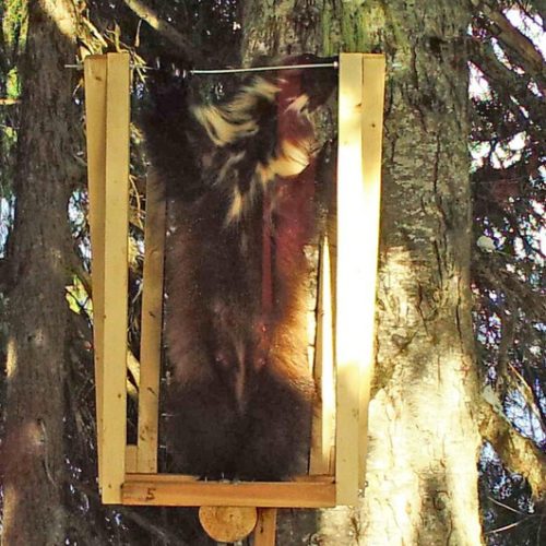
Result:
<instances>
[{"instance_id":1,"label":"dark brown furry animal with cream markings inside the wooden frame","mask_svg":"<svg viewBox=\"0 0 546 546\"><path fill-rule=\"evenodd\" d=\"M304 253L314 233L312 86L294 69L254 78L218 105L188 107L185 83L162 78L146 140L170 198L174 470L246 479L305 472L314 395Z\"/></svg>"}]
</instances>

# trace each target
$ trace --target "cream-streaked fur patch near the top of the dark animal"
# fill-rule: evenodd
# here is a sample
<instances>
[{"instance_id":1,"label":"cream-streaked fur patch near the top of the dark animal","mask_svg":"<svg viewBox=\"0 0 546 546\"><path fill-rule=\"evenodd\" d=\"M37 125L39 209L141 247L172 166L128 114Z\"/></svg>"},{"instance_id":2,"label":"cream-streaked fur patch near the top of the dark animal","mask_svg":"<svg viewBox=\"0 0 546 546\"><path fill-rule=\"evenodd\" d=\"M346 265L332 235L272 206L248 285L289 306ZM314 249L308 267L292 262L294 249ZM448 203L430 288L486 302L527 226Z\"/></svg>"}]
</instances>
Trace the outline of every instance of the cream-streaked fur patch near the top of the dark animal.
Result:
<instances>
[{"instance_id":1,"label":"cream-streaked fur patch near the top of the dark animal","mask_svg":"<svg viewBox=\"0 0 546 546\"><path fill-rule=\"evenodd\" d=\"M271 79L254 78L224 104L191 109L217 153L237 150L233 150L233 155L224 159L222 167L211 177L215 185L235 183L226 197L230 200L226 226L242 218L257 194L265 191L277 177L296 177L310 164L314 139L308 104L309 96L297 79L274 74ZM265 115L276 119L276 127L260 127ZM271 134L265 134L265 131ZM252 165L240 147L245 141L251 144L257 138L271 139L271 150L266 156L257 157ZM242 168L251 169L247 171L249 183L246 187L237 182Z\"/></svg>"}]
</instances>

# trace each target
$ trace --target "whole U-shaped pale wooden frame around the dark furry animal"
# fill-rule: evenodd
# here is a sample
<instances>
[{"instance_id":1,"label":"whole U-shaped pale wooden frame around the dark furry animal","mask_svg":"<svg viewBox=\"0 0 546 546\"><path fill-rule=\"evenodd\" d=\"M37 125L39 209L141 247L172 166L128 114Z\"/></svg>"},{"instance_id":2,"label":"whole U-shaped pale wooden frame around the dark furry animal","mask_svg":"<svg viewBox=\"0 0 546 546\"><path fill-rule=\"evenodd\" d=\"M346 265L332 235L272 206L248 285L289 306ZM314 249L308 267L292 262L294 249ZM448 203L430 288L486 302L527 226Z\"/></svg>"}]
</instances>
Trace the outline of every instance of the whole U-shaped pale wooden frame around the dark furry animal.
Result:
<instances>
[{"instance_id":1,"label":"whole U-shaped pale wooden frame around the dark furry animal","mask_svg":"<svg viewBox=\"0 0 546 546\"><path fill-rule=\"evenodd\" d=\"M149 185L146 203L139 442L126 444L129 56L91 56L84 64L103 502L264 508L355 505L364 484L373 363L384 57L340 57L336 240L324 240L321 246L317 320L314 372L322 404L313 423L312 475L289 483L226 484L156 474L165 203L154 185ZM274 525L272 512L263 512L259 521Z\"/></svg>"}]
</instances>

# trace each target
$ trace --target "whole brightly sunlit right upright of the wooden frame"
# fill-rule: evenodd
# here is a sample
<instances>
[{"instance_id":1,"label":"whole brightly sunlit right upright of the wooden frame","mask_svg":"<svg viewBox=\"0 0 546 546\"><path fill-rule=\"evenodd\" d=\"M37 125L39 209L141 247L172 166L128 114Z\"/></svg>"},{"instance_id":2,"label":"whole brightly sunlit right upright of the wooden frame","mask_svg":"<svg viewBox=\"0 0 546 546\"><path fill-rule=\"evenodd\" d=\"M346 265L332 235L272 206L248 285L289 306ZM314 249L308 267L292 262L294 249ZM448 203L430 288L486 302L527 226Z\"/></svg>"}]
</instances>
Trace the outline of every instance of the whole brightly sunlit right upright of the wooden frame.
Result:
<instances>
[{"instance_id":1,"label":"whole brightly sunlit right upright of the wooden frame","mask_svg":"<svg viewBox=\"0 0 546 546\"><path fill-rule=\"evenodd\" d=\"M379 244L382 55L341 56L336 263L336 501L365 482Z\"/></svg>"}]
</instances>

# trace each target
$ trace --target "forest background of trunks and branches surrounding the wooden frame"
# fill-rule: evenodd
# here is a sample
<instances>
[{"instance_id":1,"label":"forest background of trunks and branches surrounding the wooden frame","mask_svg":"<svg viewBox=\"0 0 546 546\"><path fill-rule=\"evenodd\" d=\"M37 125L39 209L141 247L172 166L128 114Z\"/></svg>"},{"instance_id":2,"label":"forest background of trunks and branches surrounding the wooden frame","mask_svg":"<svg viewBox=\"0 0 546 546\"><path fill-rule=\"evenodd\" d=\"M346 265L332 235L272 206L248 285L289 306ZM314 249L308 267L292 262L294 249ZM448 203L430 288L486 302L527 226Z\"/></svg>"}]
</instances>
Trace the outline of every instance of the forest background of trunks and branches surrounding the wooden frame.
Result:
<instances>
[{"instance_id":1,"label":"forest background of trunks and branches surrounding the wooden frame","mask_svg":"<svg viewBox=\"0 0 546 546\"><path fill-rule=\"evenodd\" d=\"M543 0L3 0L2 544L210 544L191 511L103 507L96 487L84 94L64 64L114 50L200 68L387 55L366 495L353 509L286 511L278 543L544 544L544 11ZM207 82L207 97L237 83ZM135 110L144 99L136 72ZM140 141L135 126L132 396Z\"/></svg>"}]
</instances>

